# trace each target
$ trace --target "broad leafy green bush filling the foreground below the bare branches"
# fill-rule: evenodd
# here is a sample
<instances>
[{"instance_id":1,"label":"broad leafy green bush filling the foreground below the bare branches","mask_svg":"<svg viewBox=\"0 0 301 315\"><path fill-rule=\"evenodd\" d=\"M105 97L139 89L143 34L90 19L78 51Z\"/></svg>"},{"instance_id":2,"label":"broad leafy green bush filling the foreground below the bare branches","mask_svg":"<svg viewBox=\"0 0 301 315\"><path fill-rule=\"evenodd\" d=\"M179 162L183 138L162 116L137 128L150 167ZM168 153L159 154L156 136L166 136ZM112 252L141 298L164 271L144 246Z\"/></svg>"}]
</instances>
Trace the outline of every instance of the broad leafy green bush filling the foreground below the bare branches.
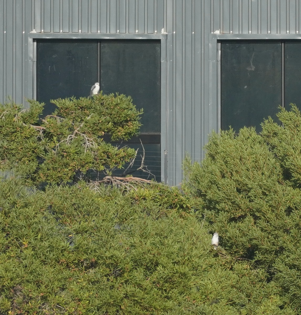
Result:
<instances>
[{"instance_id":1,"label":"broad leafy green bush filling the foreground below the bare branches","mask_svg":"<svg viewBox=\"0 0 301 315\"><path fill-rule=\"evenodd\" d=\"M189 198L159 185L0 182L0 314L296 314L263 268L217 255Z\"/></svg>"}]
</instances>

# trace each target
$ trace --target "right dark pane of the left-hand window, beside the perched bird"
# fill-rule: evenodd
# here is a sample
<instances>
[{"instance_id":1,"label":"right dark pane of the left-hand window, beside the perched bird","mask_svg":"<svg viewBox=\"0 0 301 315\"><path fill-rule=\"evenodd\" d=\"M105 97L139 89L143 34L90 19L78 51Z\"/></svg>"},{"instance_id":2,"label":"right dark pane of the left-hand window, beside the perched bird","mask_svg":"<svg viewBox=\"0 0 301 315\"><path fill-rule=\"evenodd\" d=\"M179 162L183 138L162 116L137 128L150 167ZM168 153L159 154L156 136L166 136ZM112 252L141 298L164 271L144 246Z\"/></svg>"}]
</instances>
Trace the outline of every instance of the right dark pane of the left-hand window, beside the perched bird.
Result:
<instances>
[{"instance_id":1,"label":"right dark pane of the left-hand window, beside the perched bird","mask_svg":"<svg viewBox=\"0 0 301 315\"><path fill-rule=\"evenodd\" d=\"M102 41L100 86L105 94L130 95L143 108L142 133L160 132L161 52L159 41Z\"/></svg>"}]
</instances>

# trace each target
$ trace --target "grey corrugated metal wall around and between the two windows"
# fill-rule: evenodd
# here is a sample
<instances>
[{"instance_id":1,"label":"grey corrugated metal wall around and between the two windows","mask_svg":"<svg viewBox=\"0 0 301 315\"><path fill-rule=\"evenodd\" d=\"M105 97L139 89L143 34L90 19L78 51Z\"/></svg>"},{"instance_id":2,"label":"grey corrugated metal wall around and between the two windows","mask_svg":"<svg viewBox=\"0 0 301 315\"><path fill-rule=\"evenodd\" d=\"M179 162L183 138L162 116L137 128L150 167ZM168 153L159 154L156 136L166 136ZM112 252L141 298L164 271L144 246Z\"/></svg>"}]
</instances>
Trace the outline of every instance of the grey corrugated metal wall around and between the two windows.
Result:
<instances>
[{"instance_id":1,"label":"grey corrugated metal wall around and between the two windows","mask_svg":"<svg viewBox=\"0 0 301 315\"><path fill-rule=\"evenodd\" d=\"M176 185L185 152L200 160L208 133L218 126L212 32L298 34L300 18L300 0L0 0L0 102L11 96L24 103L33 96L28 54L33 30L71 38L79 33L139 38L163 29L168 35L162 150L168 149L168 184Z\"/></svg>"}]
</instances>

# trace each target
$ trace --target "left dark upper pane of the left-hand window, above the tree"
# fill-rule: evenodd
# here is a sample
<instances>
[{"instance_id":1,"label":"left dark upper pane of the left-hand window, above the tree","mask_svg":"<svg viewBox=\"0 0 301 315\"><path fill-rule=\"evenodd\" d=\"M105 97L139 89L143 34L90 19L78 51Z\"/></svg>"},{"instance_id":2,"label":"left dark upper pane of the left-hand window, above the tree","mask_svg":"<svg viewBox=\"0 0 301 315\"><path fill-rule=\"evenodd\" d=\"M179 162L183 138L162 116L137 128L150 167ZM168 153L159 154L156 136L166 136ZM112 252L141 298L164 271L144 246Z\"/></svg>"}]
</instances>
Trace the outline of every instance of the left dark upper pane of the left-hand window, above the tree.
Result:
<instances>
[{"instance_id":1,"label":"left dark upper pane of the left-hand window, above the tree","mask_svg":"<svg viewBox=\"0 0 301 315\"><path fill-rule=\"evenodd\" d=\"M37 100L46 103L46 114L55 109L51 99L89 96L96 81L96 42L37 43Z\"/></svg>"}]
</instances>

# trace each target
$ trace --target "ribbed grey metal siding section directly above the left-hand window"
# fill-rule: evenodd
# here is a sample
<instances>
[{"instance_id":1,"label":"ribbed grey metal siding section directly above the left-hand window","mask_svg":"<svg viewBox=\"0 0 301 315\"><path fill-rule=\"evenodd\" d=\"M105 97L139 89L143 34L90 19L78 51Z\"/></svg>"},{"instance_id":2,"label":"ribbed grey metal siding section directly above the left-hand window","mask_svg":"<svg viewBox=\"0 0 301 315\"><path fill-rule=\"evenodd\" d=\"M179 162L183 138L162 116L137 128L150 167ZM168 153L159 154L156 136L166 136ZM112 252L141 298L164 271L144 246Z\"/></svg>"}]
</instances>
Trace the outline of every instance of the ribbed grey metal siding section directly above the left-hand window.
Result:
<instances>
[{"instance_id":1,"label":"ribbed grey metal siding section directly above the left-hand window","mask_svg":"<svg viewBox=\"0 0 301 315\"><path fill-rule=\"evenodd\" d=\"M11 0L2 0L7 3ZM13 0L16 1L16 0ZM37 32L156 33L166 0L17 0L31 2Z\"/></svg>"}]
</instances>

